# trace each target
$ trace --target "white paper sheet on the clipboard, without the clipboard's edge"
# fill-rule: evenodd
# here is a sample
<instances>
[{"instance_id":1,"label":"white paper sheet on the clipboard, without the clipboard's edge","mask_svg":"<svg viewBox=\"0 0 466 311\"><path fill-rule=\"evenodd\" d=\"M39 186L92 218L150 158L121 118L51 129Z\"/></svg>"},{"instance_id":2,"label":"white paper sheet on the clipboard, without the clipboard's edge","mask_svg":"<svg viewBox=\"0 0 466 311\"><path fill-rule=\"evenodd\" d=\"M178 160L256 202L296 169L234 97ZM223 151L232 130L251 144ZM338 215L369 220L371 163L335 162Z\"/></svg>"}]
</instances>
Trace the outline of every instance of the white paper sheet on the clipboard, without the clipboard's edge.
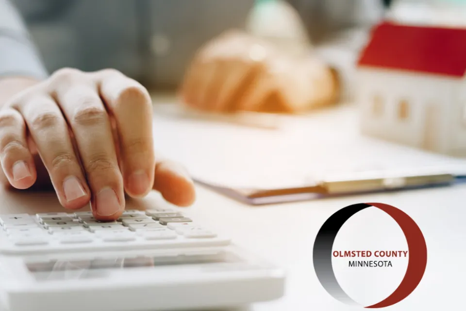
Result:
<instances>
[{"instance_id":1,"label":"white paper sheet on the clipboard, without the clipboard's edge","mask_svg":"<svg viewBox=\"0 0 466 311\"><path fill-rule=\"evenodd\" d=\"M354 107L281 116L275 131L167 118L155 111L155 145L193 177L230 188L300 187L366 171L446 169L466 173L466 160L392 144L359 133Z\"/></svg>"}]
</instances>

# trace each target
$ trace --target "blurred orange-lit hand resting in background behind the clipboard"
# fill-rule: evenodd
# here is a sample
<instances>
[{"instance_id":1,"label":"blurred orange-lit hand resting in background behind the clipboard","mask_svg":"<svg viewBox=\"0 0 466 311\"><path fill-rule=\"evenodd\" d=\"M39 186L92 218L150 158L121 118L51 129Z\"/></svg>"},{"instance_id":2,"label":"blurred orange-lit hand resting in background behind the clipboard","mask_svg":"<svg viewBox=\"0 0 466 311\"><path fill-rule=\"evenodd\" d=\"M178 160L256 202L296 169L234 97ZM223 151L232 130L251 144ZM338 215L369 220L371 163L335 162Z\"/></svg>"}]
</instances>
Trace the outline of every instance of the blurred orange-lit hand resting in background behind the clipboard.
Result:
<instances>
[{"instance_id":1,"label":"blurred orange-lit hand resting in background behind the clipboard","mask_svg":"<svg viewBox=\"0 0 466 311\"><path fill-rule=\"evenodd\" d=\"M181 93L202 110L299 112L332 103L337 88L333 71L318 59L294 58L230 32L200 49Z\"/></svg>"}]
</instances>

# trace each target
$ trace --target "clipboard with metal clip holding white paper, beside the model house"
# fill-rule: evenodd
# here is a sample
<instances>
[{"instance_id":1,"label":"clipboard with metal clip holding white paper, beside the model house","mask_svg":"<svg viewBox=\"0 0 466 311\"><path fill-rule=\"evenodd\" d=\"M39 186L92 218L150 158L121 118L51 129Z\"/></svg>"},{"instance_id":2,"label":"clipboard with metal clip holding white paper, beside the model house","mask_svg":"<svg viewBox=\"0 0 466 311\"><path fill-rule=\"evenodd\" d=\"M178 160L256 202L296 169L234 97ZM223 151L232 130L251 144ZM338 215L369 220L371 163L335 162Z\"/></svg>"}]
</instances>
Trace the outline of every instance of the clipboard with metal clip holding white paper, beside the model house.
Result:
<instances>
[{"instance_id":1,"label":"clipboard with metal clip holding white paper, beside the model house","mask_svg":"<svg viewBox=\"0 0 466 311\"><path fill-rule=\"evenodd\" d=\"M200 184L248 204L449 185L466 175L466 159L362 136L353 107L281 118L270 131L156 115L156 146Z\"/></svg>"}]
</instances>

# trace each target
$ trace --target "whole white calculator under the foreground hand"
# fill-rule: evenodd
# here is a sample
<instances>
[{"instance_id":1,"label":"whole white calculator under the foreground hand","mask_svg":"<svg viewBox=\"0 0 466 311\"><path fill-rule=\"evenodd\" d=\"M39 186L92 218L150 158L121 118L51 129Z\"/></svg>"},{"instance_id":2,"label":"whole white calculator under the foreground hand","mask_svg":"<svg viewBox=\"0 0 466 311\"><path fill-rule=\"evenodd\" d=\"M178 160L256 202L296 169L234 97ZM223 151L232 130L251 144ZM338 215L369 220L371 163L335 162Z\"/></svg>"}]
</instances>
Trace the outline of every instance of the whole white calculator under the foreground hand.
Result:
<instances>
[{"instance_id":1,"label":"whole white calculator under the foreground hand","mask_svg":"<svg viewBox=\"0 0 466 311\"><path fill-rule=\"evenodd\" d=\"M283 295L283 272L176 210L0 215L0 310L206 310Z\"/></svg>"}]
</instances>

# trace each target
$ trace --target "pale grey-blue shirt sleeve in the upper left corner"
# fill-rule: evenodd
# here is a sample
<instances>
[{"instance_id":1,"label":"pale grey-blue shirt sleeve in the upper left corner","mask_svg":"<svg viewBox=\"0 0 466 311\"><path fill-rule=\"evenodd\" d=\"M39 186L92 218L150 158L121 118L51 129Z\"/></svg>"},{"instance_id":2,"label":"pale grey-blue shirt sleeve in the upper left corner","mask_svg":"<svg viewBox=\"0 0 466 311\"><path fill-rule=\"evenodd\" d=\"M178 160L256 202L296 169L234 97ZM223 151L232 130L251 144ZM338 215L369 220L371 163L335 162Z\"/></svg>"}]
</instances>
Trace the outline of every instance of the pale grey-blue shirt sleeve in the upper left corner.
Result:
<instances>
[{"instance_id":1,"label":"pale grey-blue shirt sleeve in the upper left corner","mask_svg":"<svg viewBox=\"0 0 466 311\"><path fill-rule=\"evenodd\" d=\"M0 0L0 78L48 76L22 18L9 0Z\"/></svg>"}]
</instances>

